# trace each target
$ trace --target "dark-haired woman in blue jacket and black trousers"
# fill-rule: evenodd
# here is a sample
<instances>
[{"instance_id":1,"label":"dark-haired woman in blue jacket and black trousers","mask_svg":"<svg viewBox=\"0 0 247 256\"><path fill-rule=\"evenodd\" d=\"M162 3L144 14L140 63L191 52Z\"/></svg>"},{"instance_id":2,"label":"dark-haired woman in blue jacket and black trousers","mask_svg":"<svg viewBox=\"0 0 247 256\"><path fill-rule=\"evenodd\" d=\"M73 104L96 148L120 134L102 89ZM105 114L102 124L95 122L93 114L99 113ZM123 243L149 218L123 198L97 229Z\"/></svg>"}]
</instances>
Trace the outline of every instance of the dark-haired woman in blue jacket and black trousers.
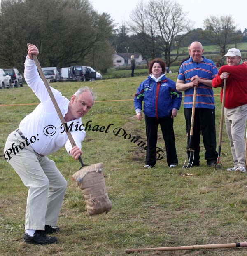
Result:
<instances>
[{"instance_id":1,"label":"dark-haired woman in blue jacket and black trousers","mask_svg":"<svg viewBox=\"0 0 247 256\"><path fill-rule=\"evenodd\" d=\"M149 76L137 89L134 104L138 120L142 120L142 101L147 134L147 154L144 168L156 164L158 125L165 141L166 159L170 168L178 164L173 130L173 118L181 106L182 93L176 90L176 83L165 76L165 63L154 59L149 63ZM159 148L158 148L159 149Z\"/></svg>"}]
</instances>

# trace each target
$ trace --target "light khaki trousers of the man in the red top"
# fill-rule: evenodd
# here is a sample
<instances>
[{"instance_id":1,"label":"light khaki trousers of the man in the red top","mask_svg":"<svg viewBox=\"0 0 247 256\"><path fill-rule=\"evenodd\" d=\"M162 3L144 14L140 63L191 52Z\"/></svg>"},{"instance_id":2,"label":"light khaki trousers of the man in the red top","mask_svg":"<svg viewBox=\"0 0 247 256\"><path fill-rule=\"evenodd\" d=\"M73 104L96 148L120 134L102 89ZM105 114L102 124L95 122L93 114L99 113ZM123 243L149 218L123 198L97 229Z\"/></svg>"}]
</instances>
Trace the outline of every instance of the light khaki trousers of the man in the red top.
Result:
<instances>
[{"instance_id":1,"label":"light khaki trousers of the man in the red top","mask_svg":"<svg viewBox=\"0 0 247 256\"><path fill-rule=\"evenodd\" d=\"M247 104L236 108L224 108L224 115L234 166L243 167L245 166Z\"/></svg>"}]
</instances>

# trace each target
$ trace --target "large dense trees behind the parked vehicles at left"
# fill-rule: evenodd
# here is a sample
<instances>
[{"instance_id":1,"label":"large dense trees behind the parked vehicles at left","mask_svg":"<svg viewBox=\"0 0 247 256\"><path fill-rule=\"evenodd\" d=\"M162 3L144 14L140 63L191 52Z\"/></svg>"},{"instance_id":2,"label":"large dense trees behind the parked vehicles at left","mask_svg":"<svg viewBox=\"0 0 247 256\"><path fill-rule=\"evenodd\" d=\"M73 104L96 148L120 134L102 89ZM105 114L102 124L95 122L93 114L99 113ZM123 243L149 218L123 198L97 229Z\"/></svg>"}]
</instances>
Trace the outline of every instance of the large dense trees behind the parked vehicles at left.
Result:
<instances>
[{"instance_id":1,"label":"large dense trees behind the parked vehicles at left","mask_svg":"<svg viewBox=\"0 0 247 256\"><path fill-rule=\"evenodd\" d=\"M39 48L41 66L82 65L100 47L111 56L112 28L110 16L98 14L88 0L3 0L0 65L23 70L27 42Z\"/></svg>"}]
</instances>

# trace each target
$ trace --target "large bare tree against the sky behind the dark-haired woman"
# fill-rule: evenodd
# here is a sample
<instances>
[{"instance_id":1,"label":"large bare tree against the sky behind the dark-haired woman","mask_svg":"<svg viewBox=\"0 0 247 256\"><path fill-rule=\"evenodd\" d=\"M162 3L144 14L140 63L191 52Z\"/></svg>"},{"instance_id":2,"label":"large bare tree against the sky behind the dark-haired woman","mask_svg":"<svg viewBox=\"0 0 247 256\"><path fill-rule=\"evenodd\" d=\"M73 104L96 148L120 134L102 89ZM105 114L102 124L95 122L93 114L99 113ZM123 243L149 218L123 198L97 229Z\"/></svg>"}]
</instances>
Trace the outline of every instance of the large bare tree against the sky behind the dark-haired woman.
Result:
<instances>
[{"instance_id":1,"label":"large bare tree against the sky behind the dark-haired woman","mask_svg":"<svg viewBox=\"0 0 247 256\"><path fill-rule=\"evenodd\" d=\"M186 15L182 6L172 0L150 0L146 5L139 2L130 16L130 27L135 33L143 35L142 40L149 47L152 58L160 48L166 64L170 66L177 59L171 60L170 52L176 47L179 53L182 40L193 27L193 22Z\"/></svg>"}]
</instances>

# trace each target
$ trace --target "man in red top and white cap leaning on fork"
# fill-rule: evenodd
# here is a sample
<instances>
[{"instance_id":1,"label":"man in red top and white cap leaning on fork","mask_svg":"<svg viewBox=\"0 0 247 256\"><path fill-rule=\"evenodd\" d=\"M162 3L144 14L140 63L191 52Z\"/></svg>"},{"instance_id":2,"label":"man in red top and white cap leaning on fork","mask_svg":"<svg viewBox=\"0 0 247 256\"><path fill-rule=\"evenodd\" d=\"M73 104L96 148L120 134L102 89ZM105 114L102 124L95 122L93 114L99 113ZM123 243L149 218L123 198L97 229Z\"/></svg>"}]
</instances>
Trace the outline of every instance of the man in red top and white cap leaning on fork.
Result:
<instances>
[{"instance_id":1,"label":"man in red top and white cap leaning on fork","mask_svg":"<svg viewBox=\"0 0 247 256\"><path fill-rule=\"evenodd\" d=\"M246 172L247 65L243 64L239 49L229 49L224 56L227 65L219 69L217 77L212 80L212 87L223 86L224 78L227 78L224 115L234 163L234 167L227 170ZM223 89L220 94L222 102Z\"/></svg>"}]
</instances>

